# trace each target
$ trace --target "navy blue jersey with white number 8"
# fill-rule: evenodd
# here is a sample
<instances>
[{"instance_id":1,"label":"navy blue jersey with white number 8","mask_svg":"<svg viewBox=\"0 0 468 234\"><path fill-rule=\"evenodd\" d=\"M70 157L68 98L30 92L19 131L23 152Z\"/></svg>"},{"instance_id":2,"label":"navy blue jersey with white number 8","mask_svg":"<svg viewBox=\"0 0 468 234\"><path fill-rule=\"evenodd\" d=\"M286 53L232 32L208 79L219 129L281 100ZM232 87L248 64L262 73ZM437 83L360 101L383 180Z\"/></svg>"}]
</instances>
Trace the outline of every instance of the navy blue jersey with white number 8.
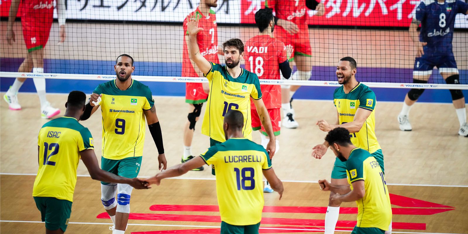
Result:
<instances>
[{"instance_id":1,"label":"navy blue jersey with white number 8","mask_svg":"<svg viewBox=\"0 0 468 234\"><path fill-rule=\"evenodd\" d=\"M421 22L419 41L427 42L424 55L441 56L452 54L455 15L465 14L468 4L461 0L446 0L439 3L423 0L416 8L416 19Z\"/></svg>"}]
</instances>

